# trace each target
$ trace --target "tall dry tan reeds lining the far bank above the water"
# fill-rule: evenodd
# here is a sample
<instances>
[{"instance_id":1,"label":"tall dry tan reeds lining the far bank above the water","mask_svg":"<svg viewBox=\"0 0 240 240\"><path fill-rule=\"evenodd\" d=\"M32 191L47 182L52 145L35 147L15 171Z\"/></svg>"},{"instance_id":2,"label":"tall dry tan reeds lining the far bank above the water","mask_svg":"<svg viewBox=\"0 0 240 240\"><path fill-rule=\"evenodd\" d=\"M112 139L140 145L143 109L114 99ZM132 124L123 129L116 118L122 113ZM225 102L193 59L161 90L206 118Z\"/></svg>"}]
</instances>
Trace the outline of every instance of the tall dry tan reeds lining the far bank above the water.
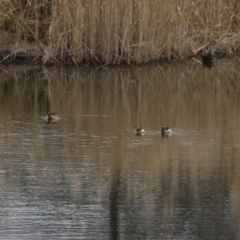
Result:
<instances>
[{"instance_id":1,"label":"tall dry tan reeds lining the far bank above the water","mask_svg":"<svg viewBox=\"0 0 240 240\"><path fill-rule=\"evenodd\" d=\"M2 0L2 61L146 63L240 46L238 0Z\"/></svg>"}]
</instances>

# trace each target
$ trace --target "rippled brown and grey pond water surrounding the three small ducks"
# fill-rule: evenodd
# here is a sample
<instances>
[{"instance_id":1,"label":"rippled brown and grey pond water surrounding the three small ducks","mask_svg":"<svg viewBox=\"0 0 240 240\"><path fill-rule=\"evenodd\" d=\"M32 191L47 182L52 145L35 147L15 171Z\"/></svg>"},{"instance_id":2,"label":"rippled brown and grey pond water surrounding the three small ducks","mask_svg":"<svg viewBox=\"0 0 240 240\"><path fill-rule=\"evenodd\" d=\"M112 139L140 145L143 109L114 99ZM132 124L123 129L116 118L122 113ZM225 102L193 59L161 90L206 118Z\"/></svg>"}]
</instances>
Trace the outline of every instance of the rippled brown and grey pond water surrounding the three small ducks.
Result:
<instances>
[{"instance_id":1,"label":"rippled brown and grey pond water surrounding the three small ducks","mask_svg":"<svg viewBox=\"0 0 240 240\"><path fill-rule=\"evenodd\" d=\"M0 76L0 239L240 239L237 60Z\"/></svg>"}]
</instances>

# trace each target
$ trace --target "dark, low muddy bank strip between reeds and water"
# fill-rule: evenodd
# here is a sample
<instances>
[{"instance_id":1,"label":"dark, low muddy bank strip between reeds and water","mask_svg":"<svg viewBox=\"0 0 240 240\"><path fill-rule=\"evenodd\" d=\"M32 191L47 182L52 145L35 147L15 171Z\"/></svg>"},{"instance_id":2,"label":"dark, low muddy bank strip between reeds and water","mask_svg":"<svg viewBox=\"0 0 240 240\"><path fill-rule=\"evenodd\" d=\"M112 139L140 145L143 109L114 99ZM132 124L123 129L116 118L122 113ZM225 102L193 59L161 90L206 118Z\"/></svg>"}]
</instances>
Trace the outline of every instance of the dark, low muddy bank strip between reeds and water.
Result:
<instances>
[{"instance_id":1,"label":"dark, low muddy bank strip between reeds and water","mask_svg":"<svg viewBox=\"0 0 240 240\"><path fill-rule=\"evenodd\" d=\"M197 61L204 61L206 54L203 52L198 52L195 55L186 56L186 57L177 57L172 56L171 59L167 57L162 57L159 60L142 62L142 63L127 63L122 61L119 64L114 64L113 62L104 63L97 61L87 61L83 60L81 63L76 63L73 61L73 57L69 54L64 54L61 56L56 55L54 58L49 58L46 62L43 61L44 52L35 46L24 49L23 47L18 50L11 51L12 47L8 49L0 50L0 64L24 64L24 65L34 65L34 66L88 66L88 67L126 67L126 66L146 66L152 64L163 64L163 63L172 63L172 62L183 62L190 59L195 59ZM214 52L213 54L207 54L211 56L212 59L221 59L221 58L233 58L239 57L240 53L237 51L232 56L227 56L224 52Z\"/></svg>"}]
</instances>

